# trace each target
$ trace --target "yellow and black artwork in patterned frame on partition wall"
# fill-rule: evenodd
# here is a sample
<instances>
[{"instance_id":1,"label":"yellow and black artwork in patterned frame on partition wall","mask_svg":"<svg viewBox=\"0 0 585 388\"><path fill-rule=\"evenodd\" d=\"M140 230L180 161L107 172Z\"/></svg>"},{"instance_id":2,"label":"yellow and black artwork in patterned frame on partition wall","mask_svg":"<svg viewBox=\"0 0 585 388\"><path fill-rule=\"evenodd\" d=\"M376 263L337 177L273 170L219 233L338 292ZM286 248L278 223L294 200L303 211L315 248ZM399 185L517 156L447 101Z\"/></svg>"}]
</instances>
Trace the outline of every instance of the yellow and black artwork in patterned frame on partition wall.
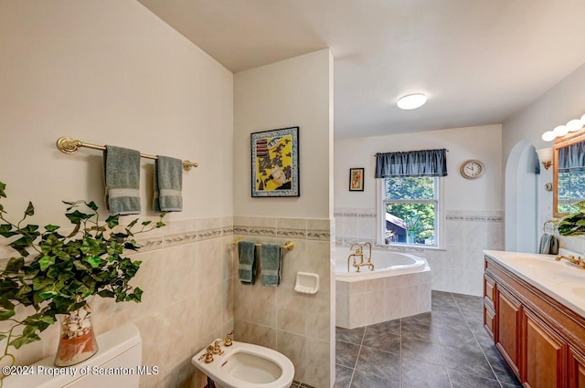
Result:
<instances>
[{"instance_id":1,"label":"yellow and black artwork in patterned frame on partition wall","mask_svg":"<svg viewBox=\"0 0 585 388\"><path fill-rule=\"evenodd\" d=\"M300 196L299 127L251 133L252 197Z\"/></svg>"}]
</instances>

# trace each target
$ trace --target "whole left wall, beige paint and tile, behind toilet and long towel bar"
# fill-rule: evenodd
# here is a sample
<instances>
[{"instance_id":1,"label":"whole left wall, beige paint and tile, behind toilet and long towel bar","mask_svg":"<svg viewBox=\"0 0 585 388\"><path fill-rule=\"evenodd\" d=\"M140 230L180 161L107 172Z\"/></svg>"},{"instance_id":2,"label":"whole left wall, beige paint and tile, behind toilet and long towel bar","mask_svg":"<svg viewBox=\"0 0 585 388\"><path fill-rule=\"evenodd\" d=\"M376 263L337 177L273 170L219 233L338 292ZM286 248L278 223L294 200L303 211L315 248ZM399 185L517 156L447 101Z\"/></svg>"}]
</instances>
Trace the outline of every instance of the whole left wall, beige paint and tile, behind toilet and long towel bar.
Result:
<instances>
[{"instance_id":1,"label":"whole left wall, beige paint and tile, behind toilet and long towel bar","mask_svg":"<svg viewBox=\"0 0 585 388\"><path fill-rule=\"evenodd\" d=\"M60 136L200 165L184 175L184 211L133 256L144 260L135 279L144 302L101 300L95 318L98 332L140 328L143 362L161 370L141 386L188 384L192 355L232 327L233 76L134 1L0 5L0 181L10 216L28 200L40 225L67 225L61 200L104 208L101 152L63 154ZM143 160L143 218L155 216L153 166ZM56 327L43 338L17 351L18 363L56 350Z\"/></svg>"}]
</instances>

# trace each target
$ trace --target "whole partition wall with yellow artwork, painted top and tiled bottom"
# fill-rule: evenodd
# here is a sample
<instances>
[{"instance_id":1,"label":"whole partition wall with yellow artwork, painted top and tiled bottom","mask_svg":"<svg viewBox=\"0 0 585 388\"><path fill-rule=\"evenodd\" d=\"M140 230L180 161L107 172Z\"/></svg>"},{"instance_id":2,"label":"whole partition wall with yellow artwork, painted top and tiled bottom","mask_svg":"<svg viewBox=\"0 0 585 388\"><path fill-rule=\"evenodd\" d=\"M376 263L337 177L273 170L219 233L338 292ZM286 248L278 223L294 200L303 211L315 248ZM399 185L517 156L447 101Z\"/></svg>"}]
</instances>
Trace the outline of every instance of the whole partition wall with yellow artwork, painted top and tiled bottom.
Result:
<instances>
[{"instance_id":1,"label":"whole partition wall with yellow artwork, painted top and tiled bottom","mask_svg":"<svg viewBox=\"0 0 585 388\"><path fill-rule=\"evenodd\" d=\"M332 64L329 50L321 50L234 76L234 235L296 244L283 255L278 288L234 279L234 326L240 340L282 351L297 380L320 388L335 376ZM294 126L300 127L301 196L251 198L250 133ZM316 295L293 290L298 271L319 274Z\"/></svg>"}]
</instances>

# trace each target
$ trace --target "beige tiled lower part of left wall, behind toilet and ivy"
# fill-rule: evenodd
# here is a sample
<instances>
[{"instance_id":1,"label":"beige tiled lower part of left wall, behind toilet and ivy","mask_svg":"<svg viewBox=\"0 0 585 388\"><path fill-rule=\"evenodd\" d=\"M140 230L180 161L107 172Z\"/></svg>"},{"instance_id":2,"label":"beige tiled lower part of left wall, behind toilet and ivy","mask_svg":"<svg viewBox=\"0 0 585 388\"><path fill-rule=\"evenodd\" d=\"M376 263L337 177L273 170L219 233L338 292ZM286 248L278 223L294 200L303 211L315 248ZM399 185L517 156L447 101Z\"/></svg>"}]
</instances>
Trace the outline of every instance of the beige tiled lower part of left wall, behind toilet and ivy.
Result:
<instances>
[{"instance_id":1,"label":"beige tiled lower part of left wall, behind toilet and ivy","mask_svg":"<svg viewBox=\"0 0 585 388\"><path fill-rule=\"evenodd\" d=\"M233 263L227 249L233 241L232 217L165 223L164 228L138 239L142 246L139 252L127 254L142 261L132 280L144 290L142 302L96 299L95 329L99 335L125 323L138 327L143 364L159 368L157 375L141 376L141 388L200 388L203 376L191 358L233 328ZM0 246L1 257L10 250ZM41 338L13 352L17 364L54 354L58 325L43 331Z\"/></svg>"}]
</instances>

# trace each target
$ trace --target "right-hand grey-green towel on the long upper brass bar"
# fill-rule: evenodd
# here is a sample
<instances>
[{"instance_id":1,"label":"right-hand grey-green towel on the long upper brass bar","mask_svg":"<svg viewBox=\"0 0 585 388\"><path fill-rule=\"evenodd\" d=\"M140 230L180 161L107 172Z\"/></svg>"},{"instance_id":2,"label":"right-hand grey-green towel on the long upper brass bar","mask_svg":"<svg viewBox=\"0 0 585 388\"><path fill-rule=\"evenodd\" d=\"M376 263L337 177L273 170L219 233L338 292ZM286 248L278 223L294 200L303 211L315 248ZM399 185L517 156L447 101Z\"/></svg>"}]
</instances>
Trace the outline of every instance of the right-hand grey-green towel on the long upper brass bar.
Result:
<instances>
[{"instance_id":1,"label":"right-hand grey-green towel on the long upper brass bar","mask_svg":"<svg viewBox=\"0 0 585 388\"><path fill-rule=\"evenodd\" d=\"M155 212L180 212L183 210L183 161L168 156L157 156L154 162Z\"/></svg>"}]
</instances>

